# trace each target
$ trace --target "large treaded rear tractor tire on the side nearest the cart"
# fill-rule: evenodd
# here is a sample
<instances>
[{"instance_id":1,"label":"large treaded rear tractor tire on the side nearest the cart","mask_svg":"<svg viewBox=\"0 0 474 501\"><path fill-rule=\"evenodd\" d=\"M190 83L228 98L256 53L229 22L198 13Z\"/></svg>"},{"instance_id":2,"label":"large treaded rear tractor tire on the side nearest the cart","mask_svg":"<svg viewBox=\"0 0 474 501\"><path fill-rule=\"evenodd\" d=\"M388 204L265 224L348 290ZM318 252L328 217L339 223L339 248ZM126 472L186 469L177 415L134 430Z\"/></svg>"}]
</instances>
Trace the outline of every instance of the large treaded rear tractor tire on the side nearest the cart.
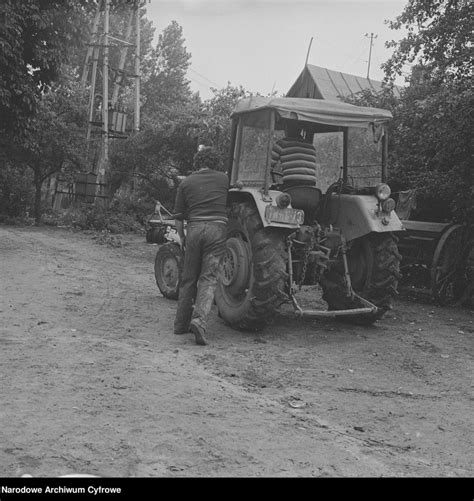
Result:
<instances>
[{"instance_id":1,"label":"large treaded rear tractor tire on the side nearest the cart","mask_svg":"<svg viewBox=\"0 0 474 501\"><path fill-rule=\"evenodd\" d=\"M392 308L392 299L398 293L401 259L397 238L391 233L371 233L353 242L347 253L352 288L378 310L374 314L345 317L347 320L372 324ZM329 310L361 307L359 301L346 296L342 262L324 275L321 285Z\"/></svg>"}]
</instances>

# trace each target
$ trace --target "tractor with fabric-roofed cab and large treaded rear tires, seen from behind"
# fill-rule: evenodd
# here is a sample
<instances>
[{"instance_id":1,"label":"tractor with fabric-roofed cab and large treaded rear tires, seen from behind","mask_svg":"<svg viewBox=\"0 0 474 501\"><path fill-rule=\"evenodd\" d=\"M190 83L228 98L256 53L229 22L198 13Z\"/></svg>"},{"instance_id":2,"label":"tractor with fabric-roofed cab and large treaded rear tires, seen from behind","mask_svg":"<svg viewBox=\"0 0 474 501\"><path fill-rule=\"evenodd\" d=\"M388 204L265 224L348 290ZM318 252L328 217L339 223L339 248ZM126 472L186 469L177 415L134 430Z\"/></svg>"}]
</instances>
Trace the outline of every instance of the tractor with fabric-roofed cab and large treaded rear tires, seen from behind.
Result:
<instances>
[{"instance_id":1,"label":"tractor with fabric-roofed cab and large treaded rear tires, seen from behind","mask_svg":"<svg viewBox=\"0 0 474 501\"><path fill-rule=\"evenodd\" d=\"M250 97L237 103L231 117L228 238L215 295L227 324L261 330L285 303L298 316L359 324L372 324L391 308L401 259L395 234L403 230L385 183L391 118L386 110L317 99ZM291 168L276 175L273 151L289 126L307 144L320 134L342 137L342 166L324 194L317 169L298 163L297 153L287 164ZM350 182L353 128L365 129L381 150L381 176L373 186ZM288 151L291 156L291 144ZM176 246L165 244L155 262L158 286L164 292L164 284L173 298L182 265ZM302 307L298 290L316 285L327 307Z\"/></svg>"}]
</instances>

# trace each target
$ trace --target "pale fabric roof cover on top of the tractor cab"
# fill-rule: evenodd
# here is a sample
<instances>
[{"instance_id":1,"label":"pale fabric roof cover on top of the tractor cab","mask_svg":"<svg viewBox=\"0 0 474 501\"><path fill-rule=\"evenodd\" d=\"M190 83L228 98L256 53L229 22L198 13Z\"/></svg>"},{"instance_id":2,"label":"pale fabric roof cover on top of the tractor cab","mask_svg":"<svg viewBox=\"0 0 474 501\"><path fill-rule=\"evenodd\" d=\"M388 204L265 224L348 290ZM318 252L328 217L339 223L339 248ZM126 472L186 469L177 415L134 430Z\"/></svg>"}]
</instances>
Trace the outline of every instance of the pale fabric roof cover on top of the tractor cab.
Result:
<instances>
[{"instance_id":1,"label":"pale fabric roof cover on top of the tractor cab","mask_svg":"<svg viewBox=\"0 0 474 501\"><path fill-rule=\"evenodd\" d=\"M382 124L392 119L390 111L354 106L338 101L260 96L240 100L234 109L233 116L264 109L274 109L282 118L339 127L367 127L371 123Z\"/></svg>"}]
</instances>

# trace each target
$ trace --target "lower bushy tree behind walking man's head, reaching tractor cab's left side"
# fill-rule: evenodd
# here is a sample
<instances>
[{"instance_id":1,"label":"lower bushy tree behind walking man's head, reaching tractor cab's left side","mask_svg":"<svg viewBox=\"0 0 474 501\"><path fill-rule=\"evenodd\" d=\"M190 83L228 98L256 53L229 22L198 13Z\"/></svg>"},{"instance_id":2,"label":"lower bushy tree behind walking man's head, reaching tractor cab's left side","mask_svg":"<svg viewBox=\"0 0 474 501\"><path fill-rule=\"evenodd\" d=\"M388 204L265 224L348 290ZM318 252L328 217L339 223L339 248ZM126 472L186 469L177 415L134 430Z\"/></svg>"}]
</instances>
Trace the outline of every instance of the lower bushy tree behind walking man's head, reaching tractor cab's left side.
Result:
<instances>
[{"instance_id":1,"label":"lower bushy tree behind walking man's head, reaching tractor cab's left side","mask_svg":"<svg viewBox=\"0 0 474 501\"><path fill-rule=\"evenodd\" d=\"M238 99L249 93L230 84L213 89L214 96L201 103L197 96L168 102L167 113L153 123L149 117L139 134L117 143L111 154L111 188L131 182L140 196L158 199L172 208L178 176L192 169L198 144L214 146L227 166L230 148L230 115ZM161 103L157 103L159 106Z\"/></svg>"}]
</instances>

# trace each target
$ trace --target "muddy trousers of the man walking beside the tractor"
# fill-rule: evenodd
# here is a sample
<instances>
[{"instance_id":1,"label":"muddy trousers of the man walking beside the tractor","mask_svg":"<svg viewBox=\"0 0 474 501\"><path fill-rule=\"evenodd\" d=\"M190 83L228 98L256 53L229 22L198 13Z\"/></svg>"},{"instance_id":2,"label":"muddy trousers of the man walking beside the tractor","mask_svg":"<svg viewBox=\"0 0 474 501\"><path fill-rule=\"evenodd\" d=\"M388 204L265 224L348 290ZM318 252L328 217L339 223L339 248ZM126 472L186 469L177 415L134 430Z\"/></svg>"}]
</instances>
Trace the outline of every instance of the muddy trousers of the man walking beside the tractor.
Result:
<instances>
[{"instance_id":1,"label":"muddy trousers of the man walking beside the tractor","mask_svg":"<svg viewBox=\"0 0 474 501\"><path fill-rule=\"evenodd\" d=\"M224 223L188 223L184 266L174 321L175 333L189 332L191 320L204 331L207 329L225 251L226 234L227 225Z\"/></svg>"}]
</instances>

